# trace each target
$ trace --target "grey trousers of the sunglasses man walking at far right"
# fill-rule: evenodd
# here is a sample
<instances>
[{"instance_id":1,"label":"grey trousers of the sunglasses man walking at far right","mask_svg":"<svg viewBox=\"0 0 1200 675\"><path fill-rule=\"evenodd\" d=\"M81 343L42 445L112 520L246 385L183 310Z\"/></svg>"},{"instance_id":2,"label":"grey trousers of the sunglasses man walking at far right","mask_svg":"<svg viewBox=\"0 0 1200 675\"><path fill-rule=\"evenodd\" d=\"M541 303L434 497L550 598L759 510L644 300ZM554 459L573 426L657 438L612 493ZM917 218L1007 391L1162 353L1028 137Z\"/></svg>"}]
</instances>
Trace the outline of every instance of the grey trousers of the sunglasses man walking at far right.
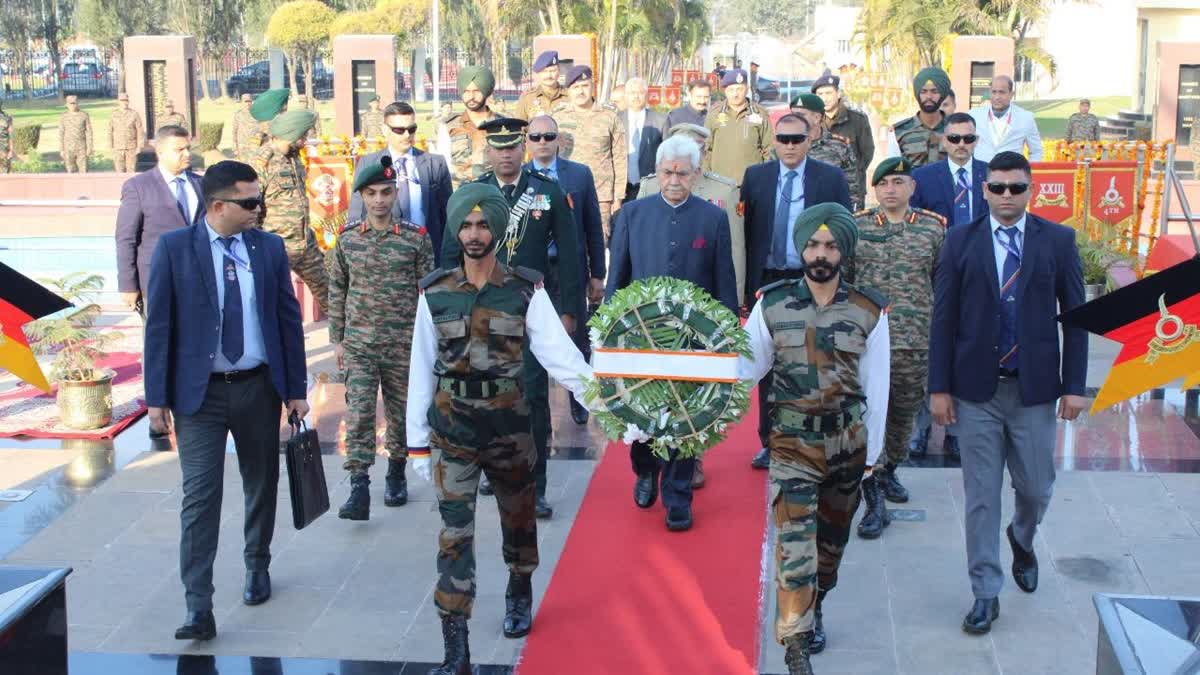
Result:
<instances>
[{"instance_id":1,"label":"grey trousers of the sunglasses man walking at far right","mask_svg":"<svg viewBox=\"0 0 1200 675\"><path fill-rule=\"evenodd\" d=\"M1033 550L1033 534L1054 491L1055 404L1022 406L1018 381L1001 378L990 401L954 399L954 407L966 495L967 572L974 597L990 599L1004 585L1000 566L1004 465L1016 492L1013 534L1021 548Z\"/></svg>"}]
</instances>

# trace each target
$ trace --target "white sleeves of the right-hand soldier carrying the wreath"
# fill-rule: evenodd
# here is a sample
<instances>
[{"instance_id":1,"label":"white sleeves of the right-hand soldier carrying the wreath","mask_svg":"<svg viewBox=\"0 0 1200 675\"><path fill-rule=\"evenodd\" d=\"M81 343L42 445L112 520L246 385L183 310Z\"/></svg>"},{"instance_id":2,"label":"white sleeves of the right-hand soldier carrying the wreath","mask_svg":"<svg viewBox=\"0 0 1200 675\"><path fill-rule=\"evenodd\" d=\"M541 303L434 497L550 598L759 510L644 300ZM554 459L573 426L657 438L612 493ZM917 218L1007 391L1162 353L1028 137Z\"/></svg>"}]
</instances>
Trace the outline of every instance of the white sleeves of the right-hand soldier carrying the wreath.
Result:
<instances>
[{"instance_id":1,"label":"white sleeves of the right-hand soldier carrying the wreath","mask_svg":"<svg viewBox=\"0 0 1200 675\"><path fill-rule=\"evenodd\" d=\"M746 321L750 351L754 359L738 357L738 377L754 386L770 372L775 363L775 345L763 317L762 303L754 306ZM875 466L883 452L883 435L888 422L888 388L892 386L892 344L888 335L888 315L880 313L875 329L866 336L866 351L858 360L858 381L866 394L866 466Z\"/></svg>"}]
</instances>

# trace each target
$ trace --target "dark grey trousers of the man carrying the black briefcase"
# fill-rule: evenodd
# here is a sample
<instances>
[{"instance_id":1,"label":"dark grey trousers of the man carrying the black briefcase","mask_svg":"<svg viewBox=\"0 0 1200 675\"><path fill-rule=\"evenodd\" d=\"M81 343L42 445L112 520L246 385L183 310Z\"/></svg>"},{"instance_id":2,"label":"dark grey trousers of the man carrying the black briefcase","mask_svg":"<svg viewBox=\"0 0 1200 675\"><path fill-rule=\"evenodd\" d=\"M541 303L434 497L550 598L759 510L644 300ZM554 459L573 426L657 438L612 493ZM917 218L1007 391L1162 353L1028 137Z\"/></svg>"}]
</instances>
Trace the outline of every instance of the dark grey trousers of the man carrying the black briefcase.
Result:
<instances>
[{"instance_id":1,"label":"dark grey trousers of the man carrying the black briefcase","mask_svg":"<svg viewBox=\"0 0 1200 675\"><path fill-rule=\"evenodd\" d=\"M184 473L179 577L187 611L212 610L212 562L221 530L226 438L233 434L245 495L246 569L271 563L280 486L282 402L266 369L241 382L210 381L194 414L175 416L179 466Z\"/></svg>"}]
</instances>

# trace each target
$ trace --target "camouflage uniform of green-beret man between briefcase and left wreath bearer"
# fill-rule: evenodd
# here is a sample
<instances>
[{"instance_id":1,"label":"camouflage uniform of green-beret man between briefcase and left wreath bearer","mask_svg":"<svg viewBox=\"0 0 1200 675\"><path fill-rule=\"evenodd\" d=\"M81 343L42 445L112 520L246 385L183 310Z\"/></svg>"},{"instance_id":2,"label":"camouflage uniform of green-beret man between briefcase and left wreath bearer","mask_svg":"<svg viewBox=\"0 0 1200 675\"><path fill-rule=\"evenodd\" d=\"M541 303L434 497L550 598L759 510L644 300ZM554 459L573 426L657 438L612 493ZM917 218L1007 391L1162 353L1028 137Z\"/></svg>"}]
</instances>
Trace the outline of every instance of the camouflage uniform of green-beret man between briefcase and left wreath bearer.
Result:
<instances>
[{"instance_id":1,"label":"camouflage uniform of green-beret man between briefcase and left wreath bearer","mask_svg":"<svg viewBox=\"0 0 1200 675\"><path fill-rule=\"evenodd\" d=\"M329 340L344 348L346 464L366 471L376 458L376 398L383 389L388 458L404 460L408 362L418 282L433 270L425 228L410 222L378 231L342 229L329 259Z\"/></svg>"}]
</instances>

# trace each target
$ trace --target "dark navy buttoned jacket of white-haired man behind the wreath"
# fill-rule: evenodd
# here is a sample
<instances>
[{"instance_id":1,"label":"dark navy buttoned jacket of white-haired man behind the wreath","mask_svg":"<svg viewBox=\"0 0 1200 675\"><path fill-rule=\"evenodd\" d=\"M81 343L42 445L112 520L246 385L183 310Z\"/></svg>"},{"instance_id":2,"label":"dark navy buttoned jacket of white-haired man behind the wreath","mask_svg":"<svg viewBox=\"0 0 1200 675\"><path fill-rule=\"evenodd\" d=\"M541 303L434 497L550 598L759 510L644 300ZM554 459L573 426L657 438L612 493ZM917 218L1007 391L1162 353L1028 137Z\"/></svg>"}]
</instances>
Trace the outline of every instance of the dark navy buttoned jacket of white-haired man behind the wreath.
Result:
<instances>
[{"instance_id":1,"label":"dark navy buttoned jacket of white-haired man behind the wreath","mask_svg":"<svg viewBox=\"0 0 1200 675\"><path fill-rule=\"evenodd\" d=\"M673 276L738 311L730 219L725 209L695 195L677 209L661 195L623 205L613 219L608 253L605 299L638 279Z\"/></svg>"}]
</instances>

